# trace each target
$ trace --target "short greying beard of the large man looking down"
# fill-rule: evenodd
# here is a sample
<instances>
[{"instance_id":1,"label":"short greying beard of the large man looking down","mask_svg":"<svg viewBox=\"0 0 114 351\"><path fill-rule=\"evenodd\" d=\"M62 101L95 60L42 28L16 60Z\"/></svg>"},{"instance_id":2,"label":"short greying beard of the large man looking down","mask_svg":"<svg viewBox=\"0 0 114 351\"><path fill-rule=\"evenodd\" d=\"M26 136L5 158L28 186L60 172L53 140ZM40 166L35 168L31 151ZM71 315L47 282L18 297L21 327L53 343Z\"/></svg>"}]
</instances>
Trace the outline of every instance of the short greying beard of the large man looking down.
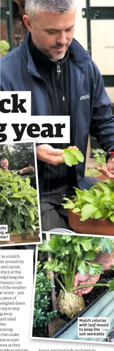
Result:
<instances>
[{"instance_id":1,"label":"short greying beard of the large man looking down","mask_svg":"<svg viewBox=\"0 0 114 351\"><path fill-rule=\"evenodd\" d=\"M55 61L55 62L57 62L58 60L61 60L62 58L64 58L64 56L65 56L65 54L66 54L66 51L67 51L69 45L71 44L71 42L70 42L69 44L66 45L66 50L65 50L65 53L64 53L64 54L63 54L63 53L58 53L58 55L52 55L52 54L50 54L50 49L52 49L54 45L53 45L53 46L50 46L49 49L46 49L46 48L42 47L41 45L39 45L39 44L36 42L36 40L35 40L34 37L32 37L32 40L33 40L33 43L34 43L34 45L37 47L38 50L40 50L40 51L41 51L44 55L46 55L50 60L53 60L53 61ZM54 47L62 48L63 45L61 45L61 44L58 43L58 46L55 44Z\"/></svg>"}]
</instances>

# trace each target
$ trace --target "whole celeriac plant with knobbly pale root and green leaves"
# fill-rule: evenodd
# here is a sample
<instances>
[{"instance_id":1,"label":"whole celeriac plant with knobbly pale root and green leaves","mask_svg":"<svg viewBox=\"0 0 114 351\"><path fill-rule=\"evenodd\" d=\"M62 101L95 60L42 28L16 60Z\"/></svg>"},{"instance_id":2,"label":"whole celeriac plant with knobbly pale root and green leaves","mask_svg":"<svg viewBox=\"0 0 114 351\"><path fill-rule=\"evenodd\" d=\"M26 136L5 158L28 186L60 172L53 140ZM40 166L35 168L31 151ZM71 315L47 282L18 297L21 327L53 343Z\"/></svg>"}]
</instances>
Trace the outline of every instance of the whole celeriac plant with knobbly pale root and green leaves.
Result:
<instances>
[{"instance_id":1,"label":"whole celeriac plant with knobbly pale root and green leaves","mask_svg":"<svg viewBox=\"0 0 114 351\"><path fill-rule=\"evenodd\" d=\"M62 289L57 298L58 310L72 318L85 307L83 297L74 294L76 272L79 271L81 275L89 273L91 276L102 274L104 272L102 264L95 262L97 253L108 250L111 254L114 251L114 240L88 236L52 235L49 242L43 240L39 250L51 252L53 255L51 262L44 262L43 269L46 272L55 272L55 278ZM98 286L98 284L89 286L96 285ZM114 281L105 286L108 286L111 291L114 290ZM78 289L82 287L84 286Z\"/></svg>"}]
</instances>

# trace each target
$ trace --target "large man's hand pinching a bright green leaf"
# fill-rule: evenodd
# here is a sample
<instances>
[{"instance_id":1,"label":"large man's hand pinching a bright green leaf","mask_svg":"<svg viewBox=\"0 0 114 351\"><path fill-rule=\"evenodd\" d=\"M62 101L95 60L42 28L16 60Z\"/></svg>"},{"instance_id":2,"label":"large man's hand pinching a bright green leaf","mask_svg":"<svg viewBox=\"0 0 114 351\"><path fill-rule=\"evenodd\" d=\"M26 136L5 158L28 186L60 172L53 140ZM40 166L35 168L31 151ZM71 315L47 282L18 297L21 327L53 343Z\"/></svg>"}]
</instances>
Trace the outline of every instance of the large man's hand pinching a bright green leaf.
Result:
<instances>
[{"instance_id":1,"label":"large man's hand pinching a bright green leaf","mask_svg":"<svg viewBox=\"0 0 114 351\"><path fill-rule=\"evenodd\" d=\"M62 156L63 153L64 150L54 149L52 148L52 146L47 144L39 145L36 148L37 159L43 162L47 162L48 164L54 166L58 166L59 164L65 163L64 158Z\"/></svg>"}]
</instances>

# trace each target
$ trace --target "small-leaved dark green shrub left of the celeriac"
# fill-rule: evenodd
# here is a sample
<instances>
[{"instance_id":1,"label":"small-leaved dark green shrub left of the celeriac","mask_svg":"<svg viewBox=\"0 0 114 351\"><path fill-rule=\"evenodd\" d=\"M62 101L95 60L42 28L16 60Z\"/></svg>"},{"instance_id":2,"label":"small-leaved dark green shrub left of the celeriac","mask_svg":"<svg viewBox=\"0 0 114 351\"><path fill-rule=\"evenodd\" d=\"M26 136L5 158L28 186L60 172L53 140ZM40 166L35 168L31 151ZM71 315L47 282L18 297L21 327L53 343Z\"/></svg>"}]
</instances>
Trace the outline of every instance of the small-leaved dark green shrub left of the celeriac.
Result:
<instances>
[{"instance_id":1,"label":"small-leaved dark green shrub left of the celeriac","mask_svg":"<svg viewBox=\"0 0 114 351\"><path fill-rule=\"evenodd\" d=\"M40 269L40 272L39 272ZM35 287L34 317L33 327L42 328L56 317L57 311L49 312L50 293L54 287L51 280L42 272L41 265L38 264Z\"/></svg>"}]
</instances>

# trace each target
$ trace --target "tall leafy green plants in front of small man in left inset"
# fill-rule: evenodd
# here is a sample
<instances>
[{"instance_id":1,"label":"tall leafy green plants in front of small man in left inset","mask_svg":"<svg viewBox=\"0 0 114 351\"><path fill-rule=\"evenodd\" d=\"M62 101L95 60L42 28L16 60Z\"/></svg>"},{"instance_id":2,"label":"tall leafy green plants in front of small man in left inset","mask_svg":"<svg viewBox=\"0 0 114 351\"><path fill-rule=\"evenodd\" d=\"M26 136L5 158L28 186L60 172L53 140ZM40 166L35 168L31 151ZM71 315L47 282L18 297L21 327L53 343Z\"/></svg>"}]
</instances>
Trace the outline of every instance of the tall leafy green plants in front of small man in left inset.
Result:
<instances>
[{"instance_id":1,"label":"tall leafy green plants in front of small man in left inset","mask_svg":"<svg viewBox=\"0 0 114 351\"><path fill-rule=\"evenodd\" d=\"M32 237L39 227L37 190L30 186L29 177L0 170L0 224L8 224L8 232L17 235L26 230Z\"/></svg>"}]
</instances>

